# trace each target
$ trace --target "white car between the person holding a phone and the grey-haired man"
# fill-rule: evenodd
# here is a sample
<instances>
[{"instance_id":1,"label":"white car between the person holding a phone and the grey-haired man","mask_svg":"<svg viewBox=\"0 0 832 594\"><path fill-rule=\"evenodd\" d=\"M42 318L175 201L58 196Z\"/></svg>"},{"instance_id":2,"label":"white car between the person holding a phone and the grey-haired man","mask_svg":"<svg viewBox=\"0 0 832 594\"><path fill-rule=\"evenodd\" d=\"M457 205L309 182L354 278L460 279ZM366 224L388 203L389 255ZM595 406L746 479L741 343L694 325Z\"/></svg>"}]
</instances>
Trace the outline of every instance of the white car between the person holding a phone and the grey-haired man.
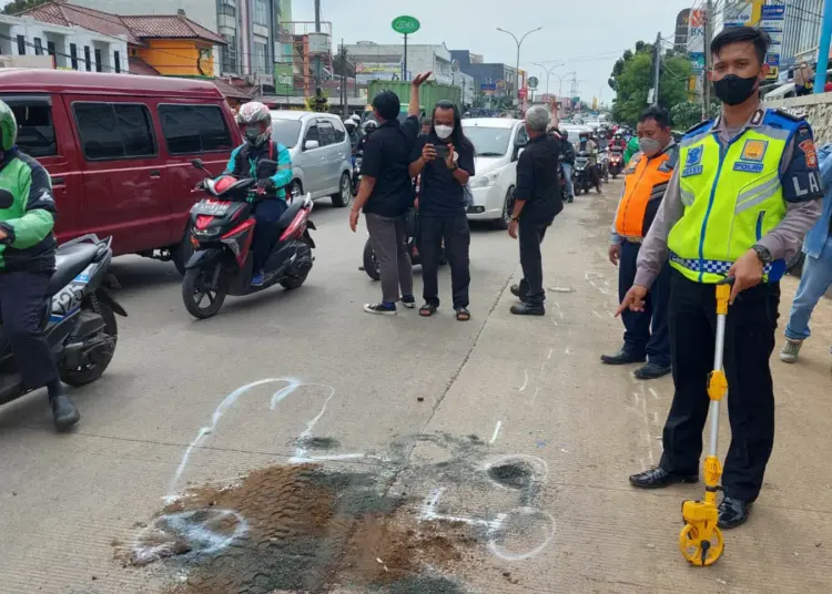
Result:
<instances>
[{"instance_id":1,"label":"white car between the person holding a phone and the grey-haired man","mask_svg":"<svg viewBox=\"0 0 832 594\"><path fill-rule=\"evenodd\" d=\"M469 117L463 120L465 135L474 144L476 175L468 185L474 204L470 221L494 221L506 228L511 221L517 185L517 160L528 143L522 120Z\"/></svg>"}]
</instances>

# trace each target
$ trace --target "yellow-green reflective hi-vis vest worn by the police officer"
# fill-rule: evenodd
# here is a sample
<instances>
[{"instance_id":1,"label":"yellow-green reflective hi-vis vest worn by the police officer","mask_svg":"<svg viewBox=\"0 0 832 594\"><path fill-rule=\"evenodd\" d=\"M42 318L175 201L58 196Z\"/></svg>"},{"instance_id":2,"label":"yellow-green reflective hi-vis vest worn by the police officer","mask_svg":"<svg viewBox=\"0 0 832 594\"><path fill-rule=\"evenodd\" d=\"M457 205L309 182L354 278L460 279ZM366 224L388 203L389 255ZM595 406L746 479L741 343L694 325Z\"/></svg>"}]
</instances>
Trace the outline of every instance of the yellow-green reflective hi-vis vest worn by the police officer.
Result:
<instances>
[{"instance_id":1,"label":"yellow-green reflective hi-vis vest worn by the police officer","mask_svg":"<svg viewBox=\"0 0 832 594\"><path fill-rule=\"evenodd\" d=\"M724 146L713 122L682 139L678 171L684 214L670 231L668 249L670 265L696 283L724 279L785 216L780 165L800 122L768 110L754 117L762 120L759 126Z\"/></svg>"}]
</instances>

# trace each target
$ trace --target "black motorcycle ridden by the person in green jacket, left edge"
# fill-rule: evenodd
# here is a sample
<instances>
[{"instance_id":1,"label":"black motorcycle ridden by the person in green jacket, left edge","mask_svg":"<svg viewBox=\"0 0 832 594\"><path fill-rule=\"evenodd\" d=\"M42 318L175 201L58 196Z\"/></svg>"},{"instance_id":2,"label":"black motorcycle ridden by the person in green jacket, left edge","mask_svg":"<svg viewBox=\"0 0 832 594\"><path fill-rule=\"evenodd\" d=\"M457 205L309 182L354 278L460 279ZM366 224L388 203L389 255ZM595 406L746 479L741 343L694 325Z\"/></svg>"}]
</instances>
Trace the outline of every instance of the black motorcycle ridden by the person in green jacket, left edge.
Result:
<instances>
[{"instance_id":1,"label":"black motorcycle ridden by the person in green jacket, left edge","mask_svg":"<svg viewBox=\"0 0 832 594\"><path fill-rule=\"evenodd\" d=\"M58 361L61 381L70 386L84 386L103 375L119 338L115 314L128 315L108 290L118 288L109 273L111 243L112 238L84 235L60 246L55 255L41 326ZM0 326L0 404L29 391Z\"/></svg>"}]
</instances>

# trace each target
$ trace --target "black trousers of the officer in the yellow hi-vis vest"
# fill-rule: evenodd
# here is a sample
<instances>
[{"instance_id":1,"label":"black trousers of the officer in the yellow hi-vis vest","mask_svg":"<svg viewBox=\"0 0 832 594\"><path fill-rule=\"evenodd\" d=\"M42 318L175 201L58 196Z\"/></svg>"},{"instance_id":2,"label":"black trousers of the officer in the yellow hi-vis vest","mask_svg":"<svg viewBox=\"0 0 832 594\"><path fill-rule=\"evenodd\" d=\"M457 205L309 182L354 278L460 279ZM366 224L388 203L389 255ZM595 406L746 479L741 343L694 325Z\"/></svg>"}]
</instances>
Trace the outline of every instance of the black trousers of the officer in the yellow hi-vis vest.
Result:
<instances>
[{"instance_id":1,"label":"black trousers of the officer in the yellow hi-vis vest","mask_svg":"<svg viewBox=\"0 0 832 594\"><path fill-rule=\"evenodd\" d=\"M731 445L722 487L726 496L754 501L774 444L774 389L769 359L774 350L780 285L742 291L728 310L724 370ZM661 468L697 474L708 417L708 375L717 331L714 285L693 283L678 270L670 279L670 356L676 393L664 424Z\"/></svg>"}]
</instances>

